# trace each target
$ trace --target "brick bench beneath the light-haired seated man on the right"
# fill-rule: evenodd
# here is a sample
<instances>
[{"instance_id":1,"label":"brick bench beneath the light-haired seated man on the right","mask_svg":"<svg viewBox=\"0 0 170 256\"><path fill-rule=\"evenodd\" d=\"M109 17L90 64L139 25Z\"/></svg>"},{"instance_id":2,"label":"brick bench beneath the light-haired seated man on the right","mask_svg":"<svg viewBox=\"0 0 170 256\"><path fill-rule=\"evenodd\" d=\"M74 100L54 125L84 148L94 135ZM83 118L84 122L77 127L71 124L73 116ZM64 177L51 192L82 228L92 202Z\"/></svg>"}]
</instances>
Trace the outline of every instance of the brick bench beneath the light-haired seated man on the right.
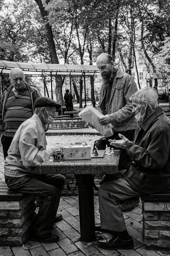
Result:
<instances>
[{"instance_id":1,"label":"brick bench beneath the light-haired seated man on the right","mask_svg":"<svg viewBox=\"0 0 170 256\"><path fill-rule=\"evenodd\" d=\"M170 191L141 195L143 239L147 249L170 248Z\"/></svg>"}]
</instances>

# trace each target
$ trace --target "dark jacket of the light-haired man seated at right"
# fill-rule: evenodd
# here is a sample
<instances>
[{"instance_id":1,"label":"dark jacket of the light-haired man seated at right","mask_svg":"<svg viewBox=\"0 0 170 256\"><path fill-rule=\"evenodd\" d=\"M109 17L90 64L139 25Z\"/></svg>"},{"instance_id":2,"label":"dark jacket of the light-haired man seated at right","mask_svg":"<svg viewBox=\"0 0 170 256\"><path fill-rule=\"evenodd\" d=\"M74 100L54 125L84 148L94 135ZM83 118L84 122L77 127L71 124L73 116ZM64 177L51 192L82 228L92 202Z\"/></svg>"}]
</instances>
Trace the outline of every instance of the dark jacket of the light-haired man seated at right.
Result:
<instances>
[{"instance_id":1,"label":"dark jacket of the light-haired man seated at right","mask_svg":"<svg viewBox=\"0 0 170 256\"><path fill-rule=\"evenodd\" d=\"M135 191L150 194L170 187L170 119L162 108L141 123L126 152L134 164L124 179Z\"/></svg>"}]
</instances>

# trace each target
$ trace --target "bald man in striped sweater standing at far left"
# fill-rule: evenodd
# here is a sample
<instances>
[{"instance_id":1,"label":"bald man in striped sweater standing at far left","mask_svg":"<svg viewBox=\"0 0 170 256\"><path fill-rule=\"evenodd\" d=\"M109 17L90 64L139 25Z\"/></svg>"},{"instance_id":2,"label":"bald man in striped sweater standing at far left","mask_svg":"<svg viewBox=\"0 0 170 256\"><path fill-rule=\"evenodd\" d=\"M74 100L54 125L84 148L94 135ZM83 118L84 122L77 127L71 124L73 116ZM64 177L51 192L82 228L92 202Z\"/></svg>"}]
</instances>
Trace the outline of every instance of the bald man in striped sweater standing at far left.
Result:
<instances>
[{"instance_id":1,"label":"bald man in striped sweater standing at far left","mask_svg":"<svg viewBox=\"0 0 170 256\"><path fill-rule=\"evenodd\" d=\"M4 158L18 127L34 114L34 101L41 97L35 87L28 85L20 68L10 71L11 86L0 100L0 138Z\"/></svg>"}]
</instances>

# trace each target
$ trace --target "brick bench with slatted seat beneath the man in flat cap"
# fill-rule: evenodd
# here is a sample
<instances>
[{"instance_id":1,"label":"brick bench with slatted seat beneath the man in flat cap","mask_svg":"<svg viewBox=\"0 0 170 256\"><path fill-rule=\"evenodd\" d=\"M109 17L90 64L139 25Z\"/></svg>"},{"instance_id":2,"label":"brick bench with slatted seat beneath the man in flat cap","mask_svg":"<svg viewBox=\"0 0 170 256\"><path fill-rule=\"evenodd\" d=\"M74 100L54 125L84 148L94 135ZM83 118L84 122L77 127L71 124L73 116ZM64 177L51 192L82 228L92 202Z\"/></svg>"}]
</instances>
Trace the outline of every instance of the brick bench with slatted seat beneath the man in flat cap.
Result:
<instances>
[{"instance_id":1,"label":"brick bench with slatted seat beneath the man in flat cap","mask_svg":"<svg viewBox=\"0 0 170 256\"><path fill-rule=\"evenodd\" d=\"M11 191L0 182L0 245L21 246L28 240L28 228L35 211L34 198Z\"/></svg>"}]
</instances>

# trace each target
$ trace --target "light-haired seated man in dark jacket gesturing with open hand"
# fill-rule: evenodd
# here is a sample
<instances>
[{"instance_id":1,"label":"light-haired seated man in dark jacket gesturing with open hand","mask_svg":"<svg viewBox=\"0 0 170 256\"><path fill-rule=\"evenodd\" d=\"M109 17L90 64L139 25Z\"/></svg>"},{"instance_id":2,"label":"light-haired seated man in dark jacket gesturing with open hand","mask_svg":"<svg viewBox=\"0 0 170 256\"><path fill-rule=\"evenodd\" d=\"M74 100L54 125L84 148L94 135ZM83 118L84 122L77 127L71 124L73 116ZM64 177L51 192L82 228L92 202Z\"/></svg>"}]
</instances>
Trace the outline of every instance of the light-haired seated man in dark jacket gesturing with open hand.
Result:
<instances>
[{"instance_id":1,"label":"light-haired seated man in dark jacket gesturing with open hand","mask_svg":"<svg viewBox=\"0 0 170 256\"><path fill-rule=\"evenodd\" d=\"M132 96L133 112L140 129L134 143L119 133L111 145L125 149L133 163L127 176L99 188L101 229L98 245L108 250L132 249L119 200L166 191L170 186L170 119L157 108L157 92L140 89Z\"/></svg>"}]
</instances>

